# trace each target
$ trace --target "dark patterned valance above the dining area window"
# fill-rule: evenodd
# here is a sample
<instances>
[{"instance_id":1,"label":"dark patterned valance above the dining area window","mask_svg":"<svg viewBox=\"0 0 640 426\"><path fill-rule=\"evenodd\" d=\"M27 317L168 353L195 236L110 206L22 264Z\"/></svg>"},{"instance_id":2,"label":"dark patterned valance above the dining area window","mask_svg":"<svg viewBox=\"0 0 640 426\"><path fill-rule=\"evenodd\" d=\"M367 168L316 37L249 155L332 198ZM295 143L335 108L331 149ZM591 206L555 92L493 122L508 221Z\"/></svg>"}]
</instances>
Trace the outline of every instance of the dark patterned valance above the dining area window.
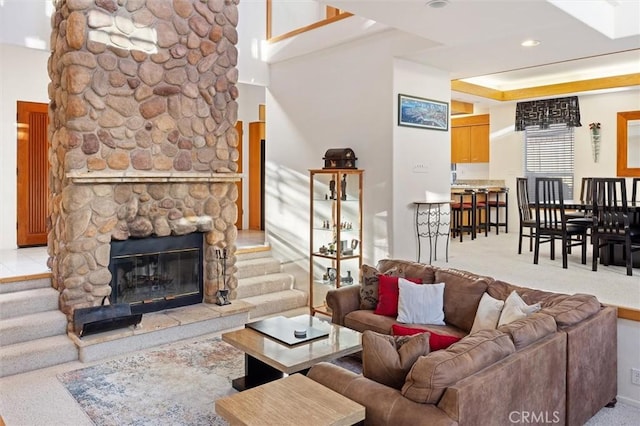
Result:
<instances>
[{"instance_id":1,"label":"dark patterned valance above the dining area window","mask_svg":"<svg viewBox=\"0 0 640 426\"><path fill-rule=\"evenodd\" d=\"M580 127L580 105L577 96L518 102L516 105L516 131L527 126L546 129L550 124Z\"/></svg>"}]
</instances>

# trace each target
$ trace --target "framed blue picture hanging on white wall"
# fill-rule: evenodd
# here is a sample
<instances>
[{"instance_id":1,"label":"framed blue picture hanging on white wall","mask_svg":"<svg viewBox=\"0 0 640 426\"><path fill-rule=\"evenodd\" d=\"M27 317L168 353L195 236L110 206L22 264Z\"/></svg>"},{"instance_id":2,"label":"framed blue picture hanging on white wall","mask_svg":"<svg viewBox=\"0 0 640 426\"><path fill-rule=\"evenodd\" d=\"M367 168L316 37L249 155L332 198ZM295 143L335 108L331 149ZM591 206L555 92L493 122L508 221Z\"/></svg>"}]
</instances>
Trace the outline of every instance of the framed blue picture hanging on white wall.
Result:
<instances>
[{"instance_id":1,"label":"framed blue picture hanging on white wall","mask_svg":"<svg viewBox=\"0 0 640 426\"><path fill-rule=\"evenodd\" d=\"M449 104L398 94L398 125L449 130Z\"/></svg>"}]
</instances>

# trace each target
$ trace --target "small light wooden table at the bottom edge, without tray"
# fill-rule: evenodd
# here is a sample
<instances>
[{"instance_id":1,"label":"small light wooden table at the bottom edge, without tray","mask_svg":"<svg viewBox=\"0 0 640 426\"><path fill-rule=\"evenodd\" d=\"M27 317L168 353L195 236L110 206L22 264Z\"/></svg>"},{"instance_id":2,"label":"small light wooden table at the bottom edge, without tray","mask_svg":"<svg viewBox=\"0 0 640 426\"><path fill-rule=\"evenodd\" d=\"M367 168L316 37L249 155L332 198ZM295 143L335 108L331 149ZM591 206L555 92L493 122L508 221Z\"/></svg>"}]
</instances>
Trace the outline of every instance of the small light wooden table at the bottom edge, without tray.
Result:
<instances>
[{"instance_id":1,"label":"small light wooden table at the bottom edge, without tray","mask_svg":"<svg viewBox=\"0 0 640 426\"><path fill-rule=\"evenodd\" d=\"M364 420L355 401L294 374L216 401L216 413L231 425L352 425Z\"/></svg>"}]
</instances>

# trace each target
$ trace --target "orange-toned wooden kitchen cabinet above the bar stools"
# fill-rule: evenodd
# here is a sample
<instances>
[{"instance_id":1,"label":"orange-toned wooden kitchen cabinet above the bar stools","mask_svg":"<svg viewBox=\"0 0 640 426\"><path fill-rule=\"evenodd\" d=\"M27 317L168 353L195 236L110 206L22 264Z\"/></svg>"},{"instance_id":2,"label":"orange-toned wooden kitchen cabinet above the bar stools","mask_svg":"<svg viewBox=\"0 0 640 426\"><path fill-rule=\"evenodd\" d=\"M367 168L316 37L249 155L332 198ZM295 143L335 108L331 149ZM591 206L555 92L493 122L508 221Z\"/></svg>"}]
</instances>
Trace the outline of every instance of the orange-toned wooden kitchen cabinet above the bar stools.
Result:
<instances>
[{"instance_id":1,"label":"orange-toned wooden kitchen cabinet above the bar stools","mask_svg":"<svg viewBox=\"0 0 640 426\"><path fill-rule=\"evenodd\" d=\"M489 162L489 115L451 120L451 162Z\"/></svg>"}]
</instances>

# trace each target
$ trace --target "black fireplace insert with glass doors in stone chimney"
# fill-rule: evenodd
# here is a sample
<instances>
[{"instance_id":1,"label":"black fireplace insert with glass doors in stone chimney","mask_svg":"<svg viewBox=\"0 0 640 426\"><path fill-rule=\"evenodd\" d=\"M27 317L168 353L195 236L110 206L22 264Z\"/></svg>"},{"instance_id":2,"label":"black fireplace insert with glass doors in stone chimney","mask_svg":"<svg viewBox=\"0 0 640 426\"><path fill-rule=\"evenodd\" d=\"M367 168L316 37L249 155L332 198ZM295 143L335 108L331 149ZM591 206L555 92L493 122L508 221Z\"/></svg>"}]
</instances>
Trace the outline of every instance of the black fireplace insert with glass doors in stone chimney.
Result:
<instances>
[{"instance_id":1,"label":"black fireplace insert with glass doors in stone chimney","mask_svg":"<svg viewBox=\"0 0 640 426\"><path fill-rule=\"evenodd\" d=\"M203 234L111 242L111 303L132 313L201 303Z\"/></svg>"}]
</instances>

